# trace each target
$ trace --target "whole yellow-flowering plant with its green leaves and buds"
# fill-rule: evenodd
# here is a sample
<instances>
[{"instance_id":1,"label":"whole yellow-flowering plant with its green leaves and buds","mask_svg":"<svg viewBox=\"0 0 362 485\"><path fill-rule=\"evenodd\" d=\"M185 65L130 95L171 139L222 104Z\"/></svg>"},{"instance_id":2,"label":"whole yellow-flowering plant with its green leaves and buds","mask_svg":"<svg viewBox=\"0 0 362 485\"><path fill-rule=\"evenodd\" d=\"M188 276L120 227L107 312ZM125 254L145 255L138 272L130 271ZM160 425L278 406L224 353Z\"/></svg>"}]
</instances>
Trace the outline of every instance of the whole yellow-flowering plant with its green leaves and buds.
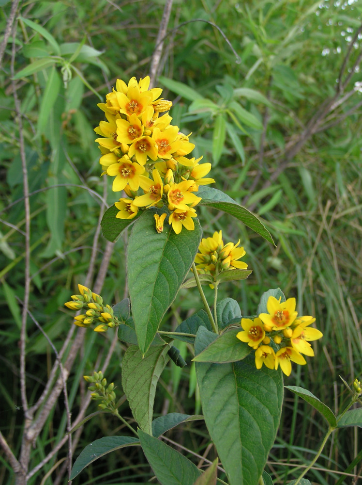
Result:
<instances>
[{"instance_id":1,"label":"whole yellow-flowering plant with its green leaves and buds","mask_svg":"<svg viewBox=\"0 0 362 485\"><path fill-rule=\"evenodd\" d=\"M240 240L225 244L221 231L202 238L195 207L224 211L272 244L273 240L251 212L205 186L214 182L205 178L211 164L199 163L202 157L187 157L195 147L189 140L191 134L171 125L172 103L160 98L161 89L149 89L149 85L148 77L132 78L128 84L118 80L106 103L98 105L107 121L95 129L100 136L96 142L102 154L102 175L114 177L114 192L125 193L106 211L103 234L114 242L132 225L126 256L130 298L112 307L79 285L79 294L65 304L84 312L75 316L76 325L93 326L96 332L117 327L119 339L128 345L121 386L137 430L118 410L114 383L107 384L102 372L85 376L91 397L101 401L100 409L117 416L132 436L104 437L87 446L75 461L71 479L98 456L141 446L162 485L211 485L216 480L269 485L271 477L264 467L279 426L283 373L290 375L291 362L304 365L304 356L314 356L309 342L322 334L313 326L315 318L299 316L295 299L286 300L280 289L261 296L256 315L242 316L237 301L218 299L220 284L245 279L251 270L241 260L245 250ZM214 292L211 306L203 285ZM205 310L172 332L162 330L163 317L181 287L197 287ZM153 419L156 384L166 364L172 360L186 365L174 345L177 340L193 349L203 416L169 413ZM336 417L306 389L288 388L323 415L329 425L326 439L336 427L353 421L350 404ZM359 381L351 392L354 403L361 395ZM182 422L200 419L205 420L222 464L218 466L216 459L204 473L157 439ZM293 483L302 483L306 471Z\"/></svg>"}]
</instances>

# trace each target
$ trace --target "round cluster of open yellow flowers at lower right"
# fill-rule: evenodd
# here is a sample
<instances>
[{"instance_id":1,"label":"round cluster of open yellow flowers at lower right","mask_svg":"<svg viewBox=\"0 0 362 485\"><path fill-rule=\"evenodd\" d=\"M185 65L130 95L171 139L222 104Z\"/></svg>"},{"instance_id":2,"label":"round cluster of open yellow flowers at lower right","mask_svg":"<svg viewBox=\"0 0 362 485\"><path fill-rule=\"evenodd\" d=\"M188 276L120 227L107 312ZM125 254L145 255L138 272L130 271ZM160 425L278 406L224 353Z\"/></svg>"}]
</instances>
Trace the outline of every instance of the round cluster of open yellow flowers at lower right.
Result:
<instances>
[{"instance_id":1,"label":"round cluster of open yellow flowers at lower right","mask_svg":"<svg viewBox=\"0 0 362 485\"><path fill-rule=\"evenodd\" d=\"M269 369L278 369L280 365L282 371L290 375L290 361L306 364L302 354L314 356L309 342L320 339L323 334L309 326L316 321L314 317L298 317L295 298L288 298L284 303L280 300L270 296L267 302L269 313L260 313L254 320L242 318L242 331L237 338L255 350L257 369L263 364ZM278 349L276 352L271 346L272 341Z\"/></svg>"}]
</instances>

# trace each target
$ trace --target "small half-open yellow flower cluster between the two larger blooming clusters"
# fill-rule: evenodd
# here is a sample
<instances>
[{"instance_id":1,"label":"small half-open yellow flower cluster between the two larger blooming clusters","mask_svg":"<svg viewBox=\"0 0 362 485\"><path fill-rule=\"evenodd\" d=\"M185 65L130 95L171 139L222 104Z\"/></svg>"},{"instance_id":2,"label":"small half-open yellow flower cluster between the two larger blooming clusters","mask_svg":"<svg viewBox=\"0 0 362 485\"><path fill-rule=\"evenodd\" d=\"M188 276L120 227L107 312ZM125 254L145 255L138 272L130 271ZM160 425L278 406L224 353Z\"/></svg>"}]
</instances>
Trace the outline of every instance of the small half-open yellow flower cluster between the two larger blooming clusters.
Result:
<instances>
[{"instance_id":1,"label":"small half-open yellow flower cluster between the two larger blooming clusters","mask_svg":"<svg viewBox=\"0 0 362 485\"><path fill-rule=\"evenodd\" d=\"M201 239L198 248L200 252L195 257L197 273L211 275L215 282L217 276L223 271L248 267L244 261L238 261L245 256L244 248L239 247L240 239L236 244L233 242L224 244L222 237L222 231L215 231L211 238ZM213 288L213 285L210 286Z\"/></svg>"}]
</instances>

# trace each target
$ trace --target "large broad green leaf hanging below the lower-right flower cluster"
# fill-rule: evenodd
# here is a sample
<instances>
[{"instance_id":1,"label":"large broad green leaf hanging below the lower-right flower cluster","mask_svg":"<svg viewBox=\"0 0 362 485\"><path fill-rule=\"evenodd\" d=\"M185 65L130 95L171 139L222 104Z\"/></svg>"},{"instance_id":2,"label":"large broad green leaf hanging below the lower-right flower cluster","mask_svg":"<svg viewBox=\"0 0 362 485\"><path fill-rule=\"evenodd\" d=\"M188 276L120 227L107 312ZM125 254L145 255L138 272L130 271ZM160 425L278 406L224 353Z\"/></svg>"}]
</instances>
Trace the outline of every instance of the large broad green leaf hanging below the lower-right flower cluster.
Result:
<instances>
[{"instance_id":1,"label":"large broad green leaf hanging below the lower-right flower cluster","mask_svg":"<svg viewBox=\"0 0 362 485\"><path fill-rule=\"evenodd\" d=\"M205 339L195 339L196 355ZM279 426L281 371L257 370L254 356L239 362L196 362L203 415L230 485L256 485Z\"/></svg>"}]
</instances>

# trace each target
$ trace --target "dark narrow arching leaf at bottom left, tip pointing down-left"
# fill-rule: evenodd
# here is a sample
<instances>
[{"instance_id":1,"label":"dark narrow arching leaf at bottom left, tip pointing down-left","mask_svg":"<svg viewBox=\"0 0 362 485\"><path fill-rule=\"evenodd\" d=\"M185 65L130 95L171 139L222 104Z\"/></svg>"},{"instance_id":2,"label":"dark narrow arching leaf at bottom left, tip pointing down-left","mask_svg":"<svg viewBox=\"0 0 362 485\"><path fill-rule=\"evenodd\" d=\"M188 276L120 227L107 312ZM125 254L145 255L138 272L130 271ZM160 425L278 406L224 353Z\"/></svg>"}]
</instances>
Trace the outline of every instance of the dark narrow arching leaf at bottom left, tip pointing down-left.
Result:
<instances>
[{"instance_id":1,"label":"dark narrow arching leaf at bottom left, tip pointing down-left","mask_svg":"<svg viewBox=\"0 0 362 485\"><path fill-rule=\"evenodd\" d=\"M133 436L105 436L96 439L87 445L75 460L69 479L73 480L83 469L101 456L125 446L135 445L139 445L139 440Z\"/></svg>"}]
</instances>

